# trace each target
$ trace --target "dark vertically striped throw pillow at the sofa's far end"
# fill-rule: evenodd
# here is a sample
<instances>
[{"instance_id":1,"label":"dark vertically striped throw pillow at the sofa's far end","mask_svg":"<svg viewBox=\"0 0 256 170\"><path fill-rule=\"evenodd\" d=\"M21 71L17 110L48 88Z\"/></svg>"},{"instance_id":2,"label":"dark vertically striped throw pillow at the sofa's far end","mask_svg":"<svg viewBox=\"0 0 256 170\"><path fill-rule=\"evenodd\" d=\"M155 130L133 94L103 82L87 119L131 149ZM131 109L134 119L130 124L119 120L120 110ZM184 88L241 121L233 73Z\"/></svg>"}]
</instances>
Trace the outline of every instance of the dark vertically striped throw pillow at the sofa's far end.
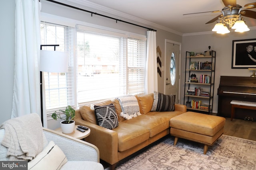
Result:
<instances>
[{"instance_id":1,"label":"dark vertically striped throw pillow at the sofa's far end","mask_svg":"<svg viewBox=\"0 0 256 170\"><path fill-rule=\"evenodd\" d=\"M175 95L154 92L154 102L151 111L174 111Z\"/></svg>"}]
</instances>

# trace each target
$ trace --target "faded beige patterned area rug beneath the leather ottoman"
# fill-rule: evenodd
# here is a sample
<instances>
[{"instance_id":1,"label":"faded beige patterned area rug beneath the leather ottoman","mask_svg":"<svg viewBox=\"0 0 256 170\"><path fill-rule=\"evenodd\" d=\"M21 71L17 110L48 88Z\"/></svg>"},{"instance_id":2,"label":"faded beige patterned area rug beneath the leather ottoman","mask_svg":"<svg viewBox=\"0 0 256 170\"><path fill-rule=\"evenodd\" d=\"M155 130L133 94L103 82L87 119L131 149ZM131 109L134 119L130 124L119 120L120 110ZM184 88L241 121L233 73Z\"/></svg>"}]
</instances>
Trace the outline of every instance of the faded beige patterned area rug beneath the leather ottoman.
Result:
<instances>
[{"instance_id":1,"label":"faded beige patterned area rug beneath the leather ottoman","mask_svg":"<svg viewBox=\"0 0 256 170\"><path fill-rule=\"evenodd\" d=\"M256 170L256 141L222 135L204 153L204 145L174 137L118 165L116 170Z\"/></svg>"}]
</instances>

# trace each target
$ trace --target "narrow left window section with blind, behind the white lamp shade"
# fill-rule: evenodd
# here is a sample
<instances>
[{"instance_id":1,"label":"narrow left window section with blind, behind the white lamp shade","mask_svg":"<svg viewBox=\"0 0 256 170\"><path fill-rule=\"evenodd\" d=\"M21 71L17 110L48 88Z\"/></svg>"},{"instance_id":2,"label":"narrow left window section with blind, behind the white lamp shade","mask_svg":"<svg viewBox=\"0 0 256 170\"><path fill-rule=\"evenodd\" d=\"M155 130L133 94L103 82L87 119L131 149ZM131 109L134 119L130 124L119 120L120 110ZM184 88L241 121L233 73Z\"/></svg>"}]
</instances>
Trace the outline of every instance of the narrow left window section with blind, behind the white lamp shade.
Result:
<instances>
[{"instance_id":1,"label":"narrow left window section with blind, behind the white lamp shade","mask_svg":"<svg viewBox=\"0 0 256 170\"><path fill-rule=\"evenodd\" d=\"M74 106L74 76L73 76L73 48L72 31L69 27L52 23L41 23L42 45L60 45L56 51L69 52L69 66L67 73L44 72L44 89L46 109L51 111L68 105ZM53 46L42 47L42 50L54 50Z\"/></svg>"}]
</instances>

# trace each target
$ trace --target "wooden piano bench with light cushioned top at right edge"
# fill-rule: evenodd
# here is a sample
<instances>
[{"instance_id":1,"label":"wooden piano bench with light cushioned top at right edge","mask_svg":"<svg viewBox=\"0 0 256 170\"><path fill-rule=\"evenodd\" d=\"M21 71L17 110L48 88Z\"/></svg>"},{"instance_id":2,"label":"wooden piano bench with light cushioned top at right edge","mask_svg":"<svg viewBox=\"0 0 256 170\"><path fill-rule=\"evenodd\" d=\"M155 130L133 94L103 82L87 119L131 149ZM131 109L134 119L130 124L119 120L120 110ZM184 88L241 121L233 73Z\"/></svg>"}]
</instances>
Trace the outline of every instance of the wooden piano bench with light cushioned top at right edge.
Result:
<instances>
[{"instance_id":1,"label":"wooden piano bench with light cushioned top at right edge","mask_svg":"<svg viewBox=\"0 0 256 170\"><path fill-rule=\"evenodd\" d=\"M232 121L234 119L235 108L256 110L256 102L245 102L245 101L232 100L230 102L230 104L231 104L230 121Z\"/></svg>"}]
</instances>

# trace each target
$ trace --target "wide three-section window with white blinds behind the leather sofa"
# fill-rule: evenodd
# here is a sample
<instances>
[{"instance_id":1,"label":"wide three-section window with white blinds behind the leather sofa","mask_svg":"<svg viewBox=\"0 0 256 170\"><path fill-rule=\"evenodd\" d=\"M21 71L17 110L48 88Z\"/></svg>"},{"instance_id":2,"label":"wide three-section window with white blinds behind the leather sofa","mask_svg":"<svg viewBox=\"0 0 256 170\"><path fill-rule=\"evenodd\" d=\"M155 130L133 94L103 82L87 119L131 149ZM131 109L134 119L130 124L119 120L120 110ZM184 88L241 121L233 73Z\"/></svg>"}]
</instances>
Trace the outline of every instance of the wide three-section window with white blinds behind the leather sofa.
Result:
<instances>
[{"instance_id":1,"label":"wide three-section window with white blinds behind the leather sofa","mask_svg":"<svg viewBox=\"0 0 256 170\"><path fill-rule=\"evenodd\" d=\"M146 39L87 28L41 24L42 44L60 44L57 51L69 52L68 73L44 72L49 113L67 105L144 94Z\"/></svg>"}]
</instances>

